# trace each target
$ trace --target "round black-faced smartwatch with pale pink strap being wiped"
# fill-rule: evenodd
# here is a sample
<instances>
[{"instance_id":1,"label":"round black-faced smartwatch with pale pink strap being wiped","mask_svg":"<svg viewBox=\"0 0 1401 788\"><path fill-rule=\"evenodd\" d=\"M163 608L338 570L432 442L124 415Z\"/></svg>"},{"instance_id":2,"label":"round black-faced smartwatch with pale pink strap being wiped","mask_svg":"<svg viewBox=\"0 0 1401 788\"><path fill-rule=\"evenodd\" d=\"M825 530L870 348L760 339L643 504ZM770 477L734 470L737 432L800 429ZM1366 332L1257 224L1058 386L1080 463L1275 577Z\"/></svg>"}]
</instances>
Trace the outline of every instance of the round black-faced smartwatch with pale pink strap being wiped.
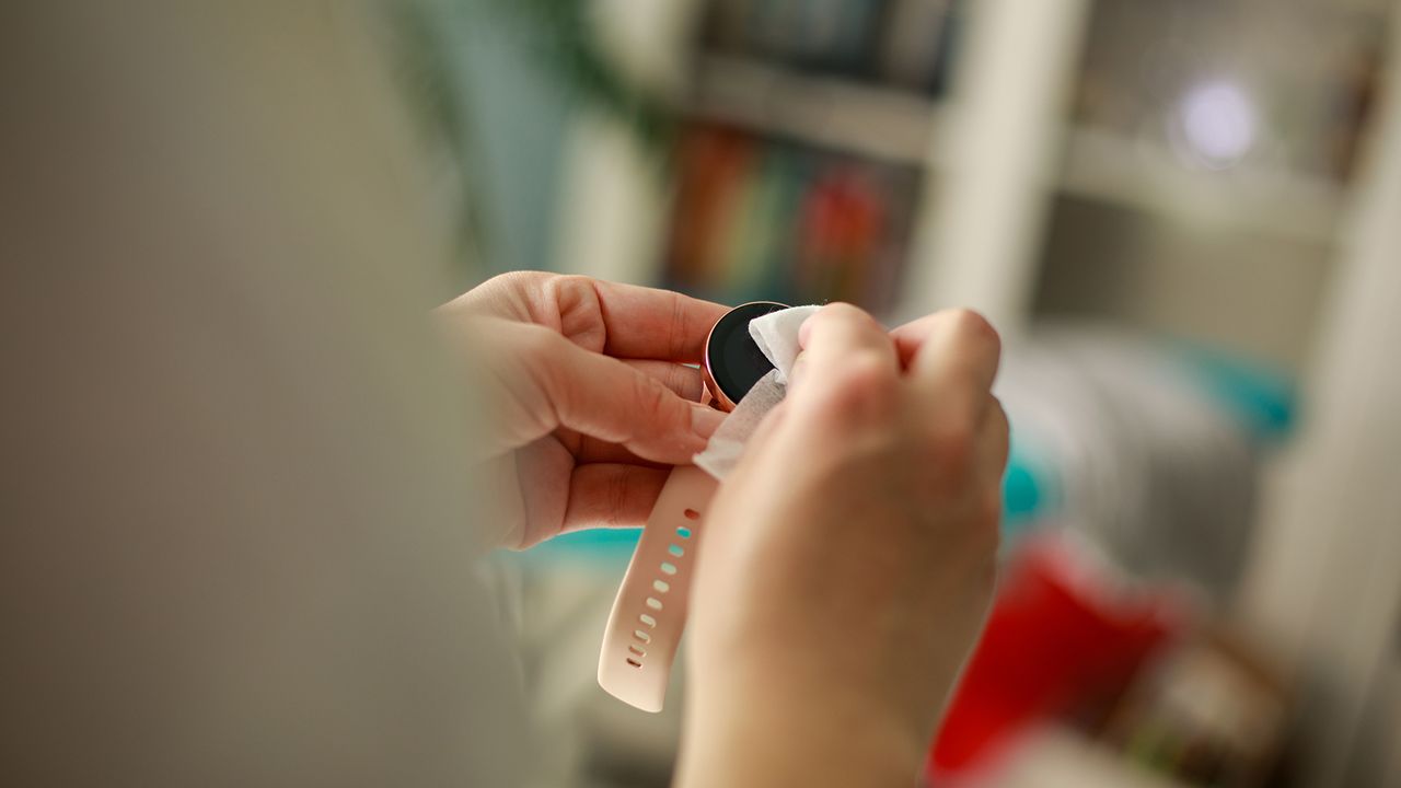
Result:
<instances>
[{"instance_id":1,"label":"round black-faced smartwatch with pale pink strap being wiped","mask_svg":"<svg viewBox=\"0 0 1401 788\"><path fill-rule=\"evenodd\" d=\"M733 411L773 363L750 335L750 321L789 308L775 301L734 307L705 342L703 401ZM719 482L695 466L667 477L628 564L598 655L598 684L643 711L661 711L671 663L685 628L691 568L706 506Z\"/></svg>"}]
</instances>

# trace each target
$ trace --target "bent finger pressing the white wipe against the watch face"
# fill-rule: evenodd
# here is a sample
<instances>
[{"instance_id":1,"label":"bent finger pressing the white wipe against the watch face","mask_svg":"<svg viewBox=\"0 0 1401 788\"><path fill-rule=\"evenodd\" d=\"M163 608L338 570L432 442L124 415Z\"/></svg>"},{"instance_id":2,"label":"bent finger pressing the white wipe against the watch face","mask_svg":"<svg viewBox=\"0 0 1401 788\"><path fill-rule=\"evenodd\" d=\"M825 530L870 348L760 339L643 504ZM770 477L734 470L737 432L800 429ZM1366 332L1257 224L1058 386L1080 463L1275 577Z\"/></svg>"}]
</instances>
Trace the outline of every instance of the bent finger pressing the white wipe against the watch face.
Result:
<instances>
[{"instance_id":1,"label":"bent finger pressing the white wipe against the watch face","mask_svg":"<svg viewBox=\"0 0 1401 788\"><path fill-rule=\"evenodd\" d=\"M799 345L803 351L789 376L794 390L801 388L808 376L835 377L862 363L888 369L892 377L899 372L895 346L885 330L852 304L827 304L803 321Z\"/></svg>"}]
</instances>

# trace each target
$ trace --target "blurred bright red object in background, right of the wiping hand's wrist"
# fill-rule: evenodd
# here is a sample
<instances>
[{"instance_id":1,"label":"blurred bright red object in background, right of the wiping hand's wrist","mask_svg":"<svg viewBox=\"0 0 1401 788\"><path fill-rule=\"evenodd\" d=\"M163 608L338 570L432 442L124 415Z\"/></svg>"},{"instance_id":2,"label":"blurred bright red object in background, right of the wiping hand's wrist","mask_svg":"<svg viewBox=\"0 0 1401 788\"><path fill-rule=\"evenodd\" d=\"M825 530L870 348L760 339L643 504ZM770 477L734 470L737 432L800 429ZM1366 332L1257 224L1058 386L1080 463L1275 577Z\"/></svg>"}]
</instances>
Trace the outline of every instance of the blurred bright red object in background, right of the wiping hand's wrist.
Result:
<instances>
[{"instance_id":1,"label":"blurred bright red object in background, right of the wiping hand's wrist","mask_svg":"<svg viewBox=\"0 0 1401 788\"><path fill-rule=\"evenodd\" d=\"M1122 691L1185 621L1171 590L1124 586L1066 538L1024 544L929 753L930 777L976 766L1077 700Z\"/></svg>"}]
</instances>

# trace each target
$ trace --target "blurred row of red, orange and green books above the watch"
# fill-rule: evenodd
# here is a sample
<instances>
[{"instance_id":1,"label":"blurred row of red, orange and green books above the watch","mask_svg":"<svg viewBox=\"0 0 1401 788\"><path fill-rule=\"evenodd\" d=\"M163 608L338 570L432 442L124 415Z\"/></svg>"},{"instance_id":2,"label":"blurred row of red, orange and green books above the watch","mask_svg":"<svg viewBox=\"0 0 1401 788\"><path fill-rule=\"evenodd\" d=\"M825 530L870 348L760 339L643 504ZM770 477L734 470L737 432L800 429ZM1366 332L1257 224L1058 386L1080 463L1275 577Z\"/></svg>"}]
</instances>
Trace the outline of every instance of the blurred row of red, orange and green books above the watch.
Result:
<instances>
[{"instance_id":1,"label":"blurred row of red, orange and green books above the watch","mask_svg":"<svg viewBox=\"0 0 1401 788\"><path fill-rule=\"evenodd\" d=\"M668 286L723 301L892 304L916 170L698 122L677 172Z\"/></svg>"}]
</instances>

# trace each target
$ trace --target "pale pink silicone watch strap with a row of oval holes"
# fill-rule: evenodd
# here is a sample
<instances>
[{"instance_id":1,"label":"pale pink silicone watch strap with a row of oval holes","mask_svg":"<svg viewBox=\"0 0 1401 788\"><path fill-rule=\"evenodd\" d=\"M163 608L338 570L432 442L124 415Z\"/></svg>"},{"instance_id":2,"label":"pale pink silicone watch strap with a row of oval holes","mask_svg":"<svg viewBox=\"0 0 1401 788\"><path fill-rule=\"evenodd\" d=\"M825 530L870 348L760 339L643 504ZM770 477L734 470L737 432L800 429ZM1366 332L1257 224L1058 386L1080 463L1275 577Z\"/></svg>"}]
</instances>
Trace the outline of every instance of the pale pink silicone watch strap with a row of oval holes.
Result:
<instances>
[{"instance_id":1,"label":"pale pink silicone watch strap with a row of oval holes","mask_svg":"<svg viewBox=\"0 0 1401 788\"><path fill-rule=\"evenodd\" d=\"M661 711L686 624L700 520L719 482L695 466L671 471L628 564L598 655L598 684L643 711Z\"/></svg>"}]
</instances>

